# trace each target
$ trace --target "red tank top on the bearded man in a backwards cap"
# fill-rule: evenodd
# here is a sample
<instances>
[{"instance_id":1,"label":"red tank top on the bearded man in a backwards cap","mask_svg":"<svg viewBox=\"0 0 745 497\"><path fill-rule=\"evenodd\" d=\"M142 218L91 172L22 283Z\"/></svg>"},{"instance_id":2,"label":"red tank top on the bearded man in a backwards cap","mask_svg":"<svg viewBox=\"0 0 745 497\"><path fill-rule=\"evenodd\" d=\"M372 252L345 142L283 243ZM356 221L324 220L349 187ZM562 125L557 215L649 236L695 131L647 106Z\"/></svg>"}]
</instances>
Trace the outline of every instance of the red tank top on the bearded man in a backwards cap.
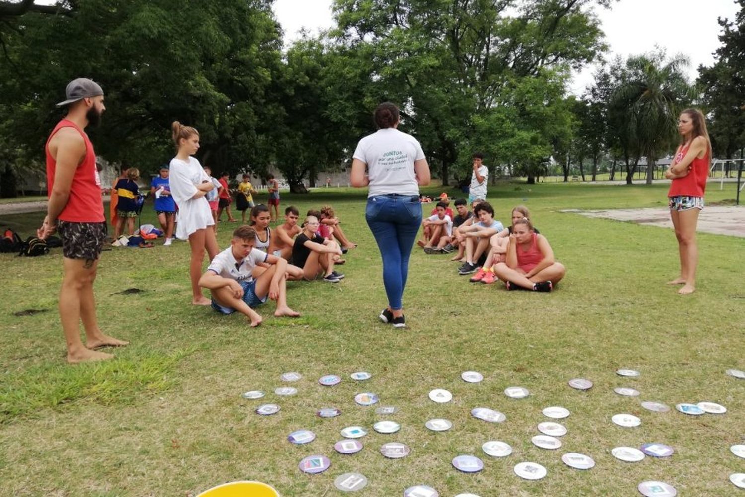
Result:
<instances>
[{"instance_id":1,"label":"red tank top on the bearded man in a backwards cap","mask_svg":"<svg viewBox=\"0 0 745 497\"><path fill-rule=\"evenodd\" d=\"M47 194L51 196L54 188L54 174L57 171L57 161L49 153L49 140L62 127L74 127L83 140L86 142L86 156L83 162L80 162L75 169L75 176L72 177L70 186L70 197L67 205L58 219L62 221L71 221L74 223L101 223L106 221L104 217L104 202L101 197L101 177L98 176L98 169L95 167L95 152L93 144L88 139L88 135L72 121L63 119L54 127L44 147L46 151L47 162Z\"/></svg>"}]
</instances>

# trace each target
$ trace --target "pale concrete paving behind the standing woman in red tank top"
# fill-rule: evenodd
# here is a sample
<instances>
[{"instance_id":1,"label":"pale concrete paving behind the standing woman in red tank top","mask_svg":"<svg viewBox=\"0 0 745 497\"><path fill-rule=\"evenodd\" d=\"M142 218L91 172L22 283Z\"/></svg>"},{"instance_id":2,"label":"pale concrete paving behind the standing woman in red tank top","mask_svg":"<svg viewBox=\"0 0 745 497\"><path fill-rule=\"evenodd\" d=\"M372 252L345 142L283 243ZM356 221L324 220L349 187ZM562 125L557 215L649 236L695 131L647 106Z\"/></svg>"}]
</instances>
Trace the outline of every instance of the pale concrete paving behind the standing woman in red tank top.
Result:
<instances>
[{"instance_id":1,"label":"pale concrete paving behind the standing woman in red tank top","mask_svg":"<svg viewBox=\"0 0 745 497\"><path fill-rule=\"evenodd\" d=\"M669 209L606 209L589 211L567 209L562 212L574 212L576 214L586 215L589 218L608 218L665 228L673 227ZM745 238L745 206L705 207L699 215L697 231Z\"/></svg>"}]
</instances>

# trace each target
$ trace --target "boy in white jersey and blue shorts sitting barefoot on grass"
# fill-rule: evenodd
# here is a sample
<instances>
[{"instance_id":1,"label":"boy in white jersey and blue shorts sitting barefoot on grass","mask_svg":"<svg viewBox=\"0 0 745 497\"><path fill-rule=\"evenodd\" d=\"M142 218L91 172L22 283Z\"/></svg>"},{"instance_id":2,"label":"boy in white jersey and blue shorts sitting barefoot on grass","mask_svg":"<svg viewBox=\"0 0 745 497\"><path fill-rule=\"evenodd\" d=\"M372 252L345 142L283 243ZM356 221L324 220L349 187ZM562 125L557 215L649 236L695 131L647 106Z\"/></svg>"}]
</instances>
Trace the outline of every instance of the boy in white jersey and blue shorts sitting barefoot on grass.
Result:
<instances>
[{"instance_id":1,"label":"boy in white jersey and blue shorts sitting barefoot on grass","mask_svg":"<svg viewBox=\"0 0 745 497\"><path fill-rule=\"evenodd\" d=\"M252 327L259 326L261 316L253 308L261 306L269 297L277 303L275 316L299 316L299 312L287 305L287 261L261 252L253 247L255 243L255 229L250 226L238 227L233 232L230 247L218 253L210 262L199 285L212 292L212 308L222 314L238 311L246 315ZM261 262L271 267L254 279L253 269Z\"/></svg>"}]
</instances>

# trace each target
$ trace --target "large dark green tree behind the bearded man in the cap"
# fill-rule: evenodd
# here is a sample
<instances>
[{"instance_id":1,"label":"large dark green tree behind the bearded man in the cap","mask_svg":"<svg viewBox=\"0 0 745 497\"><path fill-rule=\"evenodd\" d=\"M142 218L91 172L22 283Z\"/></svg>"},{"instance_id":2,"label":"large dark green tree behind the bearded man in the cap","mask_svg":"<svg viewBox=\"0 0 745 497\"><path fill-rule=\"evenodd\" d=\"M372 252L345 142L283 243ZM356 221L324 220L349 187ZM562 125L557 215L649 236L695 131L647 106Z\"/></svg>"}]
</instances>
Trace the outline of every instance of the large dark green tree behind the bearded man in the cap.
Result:
<instances>
[{"instance_id":1,"label":"large dark green tree behind the bearded man in the cap","mask_svg":"<svg viewBox=\"0 0 745 497\"><path fill-rule=\"evenodd\" d=\"M200 130L213 169L265 170L270 83L282 69L269 0L87 0L75 15L28 12L3 32L0 129L13 150L42 157L66 83L101 83L107 113L91 130L99 154L148 171L173 153L171 121ZM174 15L178 13L178 15ZM0 144L1 145L1 144ZM17 153L17 152L16 152Z\"/></svg>"}]
</instances>

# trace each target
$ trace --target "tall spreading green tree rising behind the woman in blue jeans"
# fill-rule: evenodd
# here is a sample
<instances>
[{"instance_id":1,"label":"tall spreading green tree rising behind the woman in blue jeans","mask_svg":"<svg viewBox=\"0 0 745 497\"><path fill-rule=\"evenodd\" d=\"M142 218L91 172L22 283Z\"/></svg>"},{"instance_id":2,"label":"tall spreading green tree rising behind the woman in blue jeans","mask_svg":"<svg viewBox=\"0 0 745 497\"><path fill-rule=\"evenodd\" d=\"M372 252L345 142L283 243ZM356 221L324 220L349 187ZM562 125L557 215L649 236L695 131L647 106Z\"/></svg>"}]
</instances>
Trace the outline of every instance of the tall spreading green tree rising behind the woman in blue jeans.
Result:
<instances>
[{"instance_id":1,"label":"tall spreading green tree rising behind the woman in blue jeans","mask_svg":"<svg viewBox=\"0 0 745 497\"><path fill-rule=\"evenodd\" d=\"M457 177L469 174L463 158L473 151L475 125L501 112L495 107L506 86L597 57L604 45L590 7L609 3L335 0L334 41L370 61L367 94L402 104L406 124L447 184L454 165ZM524 133L515 133L490 138L523 144ZM524 151L489 159L507 163Z\"/></svg>"}]
</instances>

